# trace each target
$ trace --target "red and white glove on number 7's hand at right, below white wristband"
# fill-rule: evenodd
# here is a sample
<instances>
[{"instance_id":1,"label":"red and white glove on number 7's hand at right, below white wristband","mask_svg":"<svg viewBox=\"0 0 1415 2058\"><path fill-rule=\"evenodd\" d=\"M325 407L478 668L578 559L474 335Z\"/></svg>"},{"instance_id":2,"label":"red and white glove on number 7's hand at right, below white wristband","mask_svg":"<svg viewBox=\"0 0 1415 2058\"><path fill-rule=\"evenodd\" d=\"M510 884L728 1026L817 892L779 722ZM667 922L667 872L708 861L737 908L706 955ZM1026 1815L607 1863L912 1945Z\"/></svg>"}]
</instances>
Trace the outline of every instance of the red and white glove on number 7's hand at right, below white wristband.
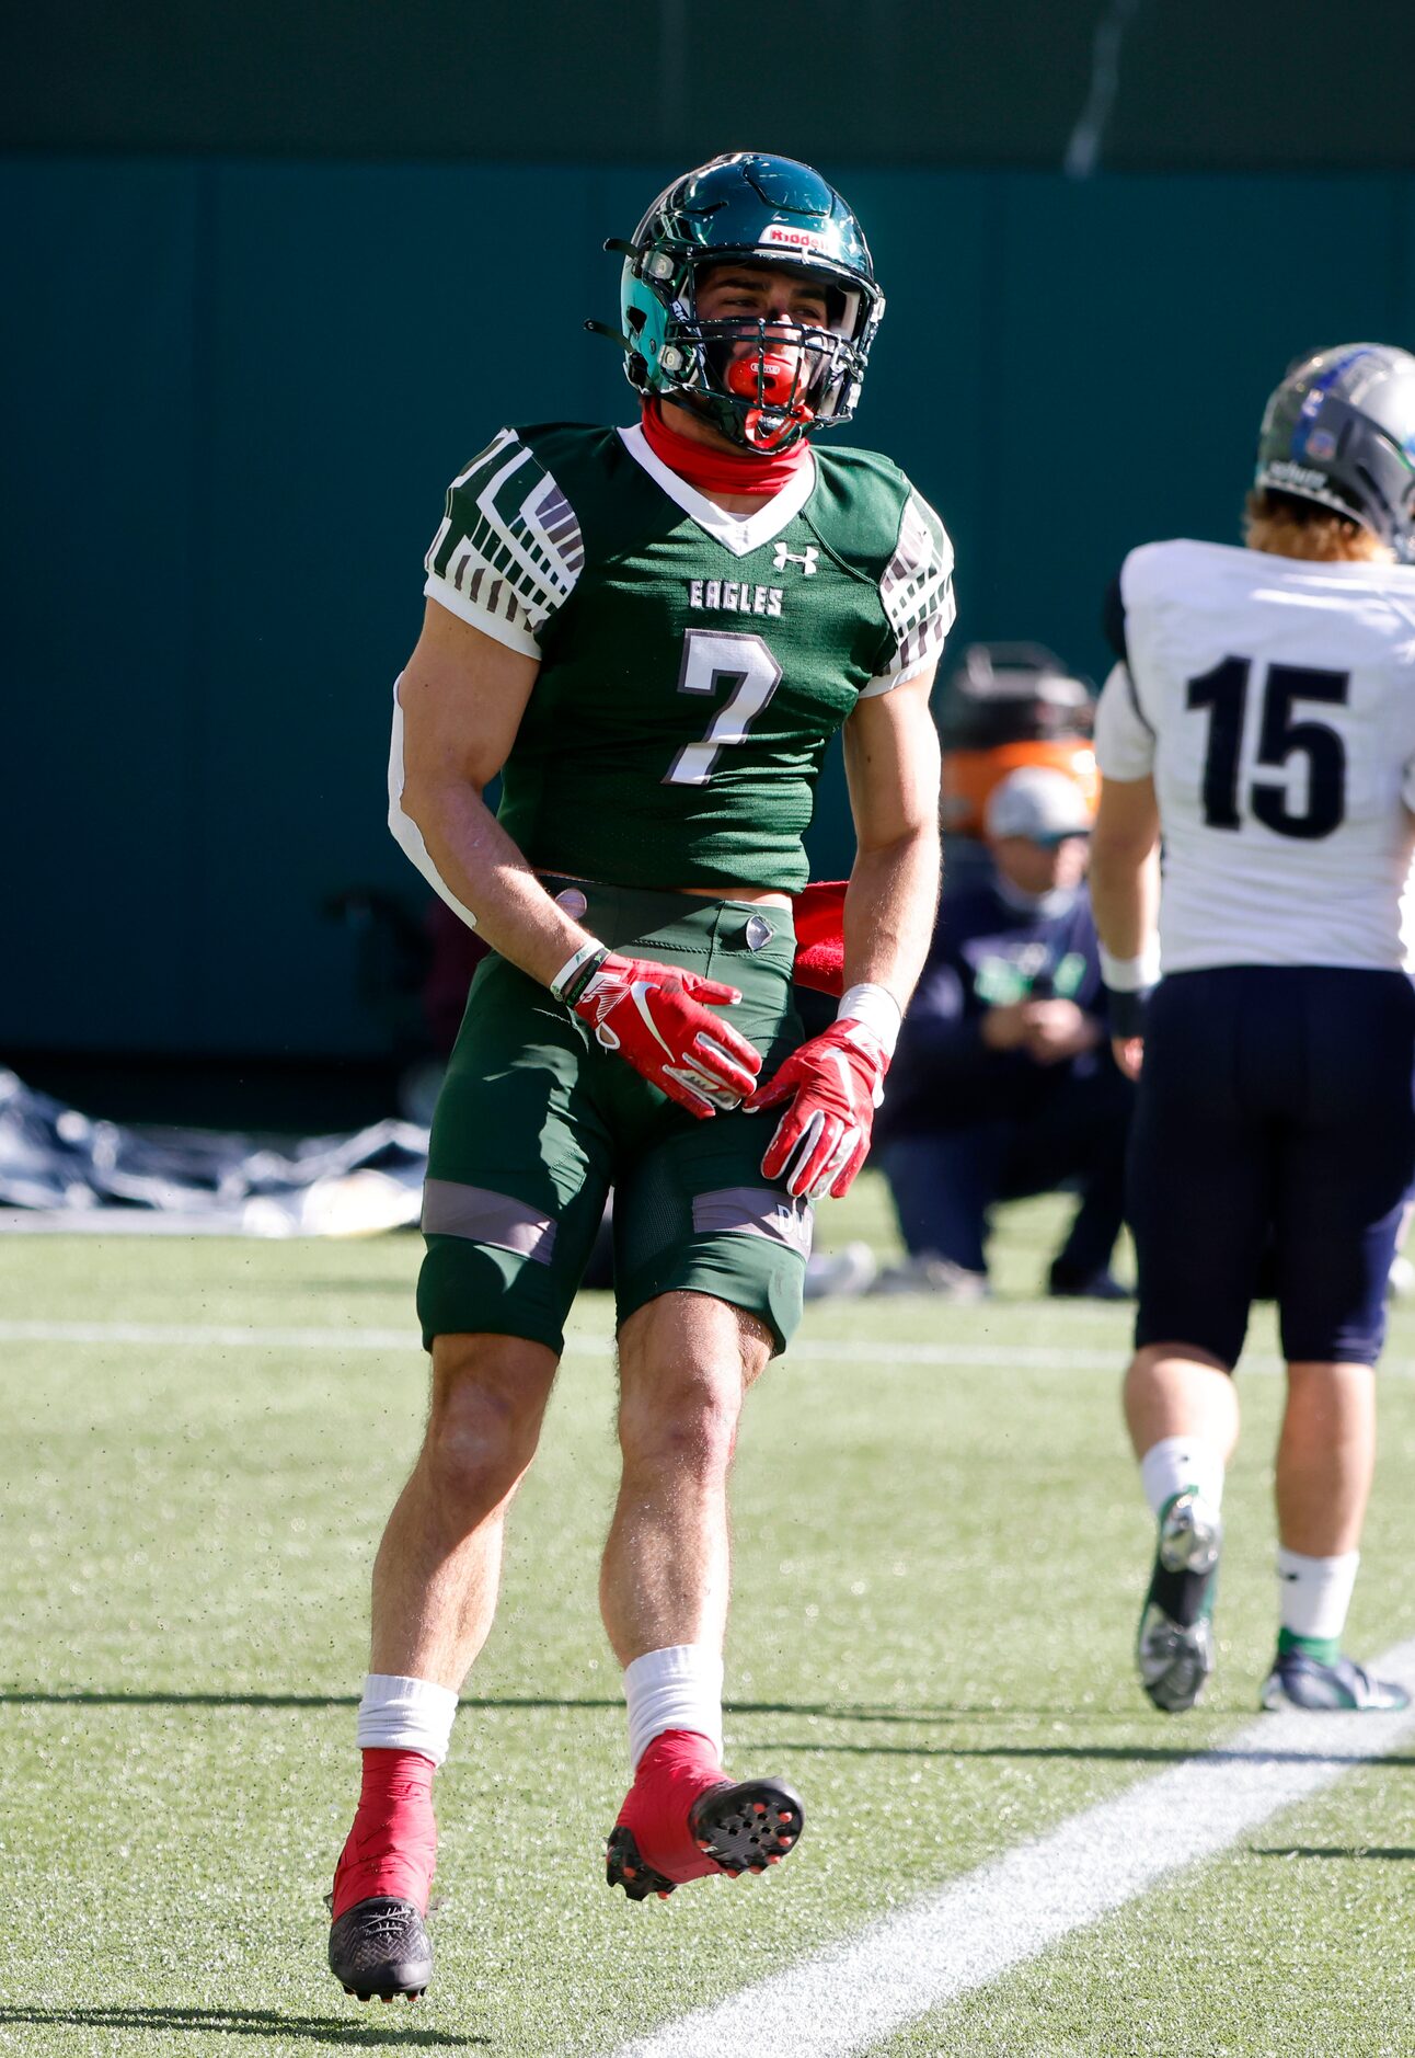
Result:
<instances>
[{"instance_id":1,"label":"red and white glove on number 7's hand at right, below white wristband","mask_svg":"<svg viewBox=\"0 0 1415 2058\"><path fill-rule=\"evenodd\" d=\"M798 1200L841 1200L870 1155L874 1109L884 1099L888 1052L866 1023L845 1017L792 1052L747 1103L749 1113L794 1095L767 1144L761 1171L786 1173Z\"/></svg>"}]
</instances>

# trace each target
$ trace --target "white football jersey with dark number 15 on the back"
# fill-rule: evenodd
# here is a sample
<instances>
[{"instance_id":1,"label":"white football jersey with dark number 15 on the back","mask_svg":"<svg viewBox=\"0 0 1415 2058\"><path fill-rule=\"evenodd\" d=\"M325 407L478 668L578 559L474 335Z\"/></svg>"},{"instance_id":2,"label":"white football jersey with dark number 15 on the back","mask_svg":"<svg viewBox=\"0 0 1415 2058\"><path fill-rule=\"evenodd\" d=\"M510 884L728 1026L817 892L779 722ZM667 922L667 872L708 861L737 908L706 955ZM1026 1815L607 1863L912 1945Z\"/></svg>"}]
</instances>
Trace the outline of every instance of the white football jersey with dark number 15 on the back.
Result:
<instances>
[{"instance_id":1,"label":"white football jersey with dark number 15 on the back","mask_svg":"<svg viewBox=\"0 0 1415 2058\"><path fill-rule=\"evenodd\" d=\"M1096 764L1154 776L1164 969L1401 967L1415 566L1146 543L1121 601Z\"/></svg>"}]
</instances>

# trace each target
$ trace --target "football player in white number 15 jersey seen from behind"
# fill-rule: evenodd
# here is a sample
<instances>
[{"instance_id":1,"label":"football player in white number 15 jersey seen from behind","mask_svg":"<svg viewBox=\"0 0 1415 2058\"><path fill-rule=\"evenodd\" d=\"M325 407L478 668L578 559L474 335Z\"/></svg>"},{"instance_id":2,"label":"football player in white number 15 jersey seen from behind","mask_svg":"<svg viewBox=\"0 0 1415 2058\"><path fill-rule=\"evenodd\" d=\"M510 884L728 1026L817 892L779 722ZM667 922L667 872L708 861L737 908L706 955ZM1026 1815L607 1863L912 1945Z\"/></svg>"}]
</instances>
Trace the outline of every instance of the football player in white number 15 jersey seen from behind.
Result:
<instances>
[{"instance_id":1,"label":"football player in white number 15 jersey seen from behind","mask_svg":"<svg viewBox=\"0 0 1415 2058\"><path fill-rule=\"evenodd\" d=\"M1263 416L1246 547L1135 549L1109 615L1090 883L1117 1056L1139 1076L1125 1418L1158 1521L1139 1679L1174 1712L1213 1665L1230 1375L1271 1272L1287 1401L1263 1706L1399 1708L1341 1632L1415 1165L1415 358L1347 344L1294 364Z\"/></svg>"}]
</instances>

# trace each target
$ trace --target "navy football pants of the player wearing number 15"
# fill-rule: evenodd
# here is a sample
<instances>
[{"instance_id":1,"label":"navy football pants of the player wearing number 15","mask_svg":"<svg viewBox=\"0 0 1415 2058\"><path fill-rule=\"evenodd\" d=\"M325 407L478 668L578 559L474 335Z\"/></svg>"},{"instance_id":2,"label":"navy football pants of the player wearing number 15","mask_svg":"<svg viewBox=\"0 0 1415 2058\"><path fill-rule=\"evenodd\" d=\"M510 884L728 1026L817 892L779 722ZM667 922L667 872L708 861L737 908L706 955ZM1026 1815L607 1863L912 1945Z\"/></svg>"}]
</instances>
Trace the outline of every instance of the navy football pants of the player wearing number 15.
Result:
<instances>
[{"instance_id":1,"label":"navy football pants of the player wearing number 15","mask_svg":"<svg viewBox=\"0 0 1415 2058\"><path fill-rule=\"evenodd\" d=\"M1374 1364L1415 1171L1401 971L1230 965L1160 982L1129 1138L1135 1346L1238 1360L1271 1280L1287 1360Z\"/></svg>"}]
</instances>

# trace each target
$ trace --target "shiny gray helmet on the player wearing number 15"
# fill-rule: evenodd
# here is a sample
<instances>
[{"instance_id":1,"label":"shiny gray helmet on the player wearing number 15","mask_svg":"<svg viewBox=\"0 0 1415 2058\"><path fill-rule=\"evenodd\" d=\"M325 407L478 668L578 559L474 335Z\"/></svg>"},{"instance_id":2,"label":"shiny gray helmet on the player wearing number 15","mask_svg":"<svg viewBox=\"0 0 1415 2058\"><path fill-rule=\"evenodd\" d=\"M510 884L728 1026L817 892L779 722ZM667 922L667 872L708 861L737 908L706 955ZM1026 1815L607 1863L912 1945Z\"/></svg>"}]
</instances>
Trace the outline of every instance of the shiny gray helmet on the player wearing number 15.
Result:
<instances>
[{"instance_id":1,"label":"shiny gray helmet on the player wearing number 15","mask_svg":"<svg viewBox=\"0 0 1415 2058\"><path fill-rule=\"evenodd\" d=\"M1339 344L1298 358L1263 414L1255 486L1345 514L1415 564L1415 356Z\"/></svg>"}]
</instances>

